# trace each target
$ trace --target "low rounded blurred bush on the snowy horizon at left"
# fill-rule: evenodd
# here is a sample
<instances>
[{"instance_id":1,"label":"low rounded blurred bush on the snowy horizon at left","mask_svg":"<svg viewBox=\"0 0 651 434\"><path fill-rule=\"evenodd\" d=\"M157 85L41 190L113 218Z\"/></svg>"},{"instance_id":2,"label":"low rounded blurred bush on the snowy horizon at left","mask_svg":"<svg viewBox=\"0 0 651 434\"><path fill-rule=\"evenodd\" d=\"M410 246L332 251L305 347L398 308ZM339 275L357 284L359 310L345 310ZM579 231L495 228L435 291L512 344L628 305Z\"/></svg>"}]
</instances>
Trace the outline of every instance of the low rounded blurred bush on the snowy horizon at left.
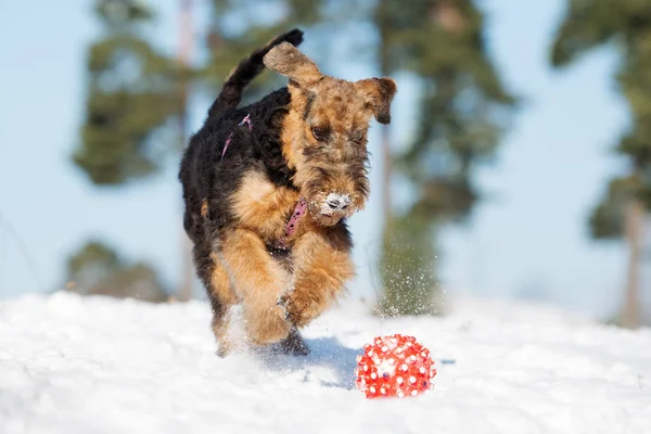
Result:
<instances>
[{"instance_id":1,"label":"low rounded blurred bush on the snowy horizon at left","mask_svg":"<svg viewBox=\"0 0 651 434\"><path fill-rule=\"evenodd\" d=\"M155 270L143 263L126 264L111 247L91 241L67 265L66 289L82 295L107 295L151 303L167 301Z\"/></svg>"}]
</instances>

